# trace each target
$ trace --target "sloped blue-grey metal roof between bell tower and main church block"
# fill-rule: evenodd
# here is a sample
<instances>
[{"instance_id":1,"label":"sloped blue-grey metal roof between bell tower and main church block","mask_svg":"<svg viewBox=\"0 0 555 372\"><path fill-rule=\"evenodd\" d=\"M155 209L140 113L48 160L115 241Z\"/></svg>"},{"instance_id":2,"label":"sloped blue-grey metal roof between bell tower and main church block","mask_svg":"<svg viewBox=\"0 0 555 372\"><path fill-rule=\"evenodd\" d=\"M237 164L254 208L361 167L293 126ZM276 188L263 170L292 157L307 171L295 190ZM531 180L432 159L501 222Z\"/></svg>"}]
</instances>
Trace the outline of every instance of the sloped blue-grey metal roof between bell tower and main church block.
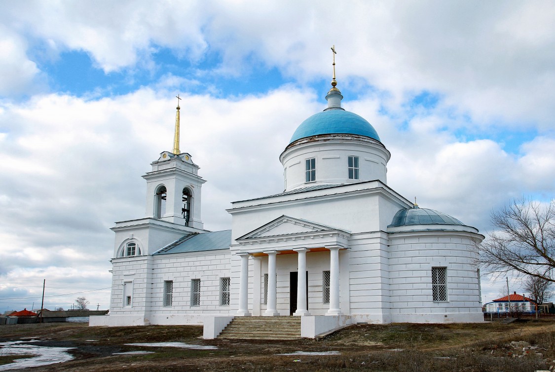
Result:
<instances>
[{"instance_id":1,"label":"sloped blue-grey metal roof between bell tower and main church block","mask_svg":"<svg viewBox=\"0 0 555 372\"><path fill-rule=\"evenodd\" d=\"M231 230L214 231L209 233L193 233L184 235L175 242L154 252L152 255L204 252L206 250L229 249L231 244Z\"/></svg>"}]
</instances>

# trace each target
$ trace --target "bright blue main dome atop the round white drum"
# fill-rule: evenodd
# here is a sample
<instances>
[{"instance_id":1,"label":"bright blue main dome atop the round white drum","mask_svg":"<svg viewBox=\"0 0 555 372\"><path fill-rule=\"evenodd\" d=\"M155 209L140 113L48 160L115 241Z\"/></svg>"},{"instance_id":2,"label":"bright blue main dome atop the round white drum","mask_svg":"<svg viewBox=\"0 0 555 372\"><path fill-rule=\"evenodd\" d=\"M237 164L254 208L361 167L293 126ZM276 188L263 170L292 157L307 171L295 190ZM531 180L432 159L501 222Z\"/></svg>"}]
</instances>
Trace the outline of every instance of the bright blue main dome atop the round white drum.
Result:
<instances>
[{"instance_id":1,"label":"bright blue main dome atop the round white drum","mask_svg":"<svg viewBox=\"0 0 555 372\"><path fill-rule=\"evenodd\" d=\"M376 129L364 118L349 111L334 109L312 115L299 125L289 143L318 134L359 134L380 140Z\"/></svg>"}]
</instances>

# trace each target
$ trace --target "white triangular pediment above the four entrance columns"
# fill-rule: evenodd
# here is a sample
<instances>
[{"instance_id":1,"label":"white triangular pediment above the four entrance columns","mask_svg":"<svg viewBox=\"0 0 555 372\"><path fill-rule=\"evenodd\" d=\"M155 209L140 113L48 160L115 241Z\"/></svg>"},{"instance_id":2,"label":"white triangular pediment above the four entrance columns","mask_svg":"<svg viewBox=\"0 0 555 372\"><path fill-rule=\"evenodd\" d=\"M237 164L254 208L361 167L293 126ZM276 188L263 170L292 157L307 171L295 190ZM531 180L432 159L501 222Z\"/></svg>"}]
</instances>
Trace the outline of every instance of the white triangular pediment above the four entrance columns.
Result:
<instances>
[{"instance_id":1,"label":"white triangular pediment above the four entrance columns","mask_svg":"<svg viewBox=\"0 0 555 372\"><path fill-rule=\"evenodd\" d=\"M255 229L236 240L270 238L291 234L317 233L329 230L337 230L337 228L282 215L281 217L262 225L258 229Z\"/></svg>"}]
</instances>

